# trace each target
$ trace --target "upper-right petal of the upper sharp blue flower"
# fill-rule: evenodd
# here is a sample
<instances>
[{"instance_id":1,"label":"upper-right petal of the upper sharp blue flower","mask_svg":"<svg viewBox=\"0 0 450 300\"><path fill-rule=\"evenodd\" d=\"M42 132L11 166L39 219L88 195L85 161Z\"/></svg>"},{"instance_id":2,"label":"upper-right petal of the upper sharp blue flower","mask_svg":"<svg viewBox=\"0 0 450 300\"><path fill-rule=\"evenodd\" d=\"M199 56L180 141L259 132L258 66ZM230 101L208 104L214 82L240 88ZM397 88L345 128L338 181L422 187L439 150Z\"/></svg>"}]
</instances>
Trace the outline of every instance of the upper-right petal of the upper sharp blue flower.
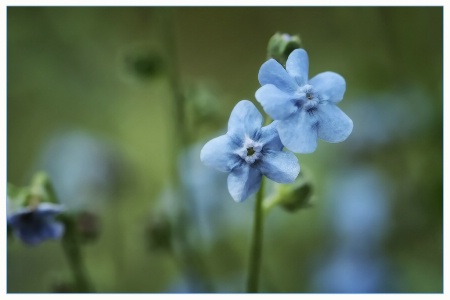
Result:
<instances>
[{"instance_id":1,"label":"upper-right petal of the upper sharp blue flower","mask_svg":"<svg viewBox=\"0 0 450 300\"><path fill-rule=\"evenodd\" d=\"M344 98L345 79L334 72L317 74L309 81L322 100L338 103Z\"/></svg>"}]
</instances>

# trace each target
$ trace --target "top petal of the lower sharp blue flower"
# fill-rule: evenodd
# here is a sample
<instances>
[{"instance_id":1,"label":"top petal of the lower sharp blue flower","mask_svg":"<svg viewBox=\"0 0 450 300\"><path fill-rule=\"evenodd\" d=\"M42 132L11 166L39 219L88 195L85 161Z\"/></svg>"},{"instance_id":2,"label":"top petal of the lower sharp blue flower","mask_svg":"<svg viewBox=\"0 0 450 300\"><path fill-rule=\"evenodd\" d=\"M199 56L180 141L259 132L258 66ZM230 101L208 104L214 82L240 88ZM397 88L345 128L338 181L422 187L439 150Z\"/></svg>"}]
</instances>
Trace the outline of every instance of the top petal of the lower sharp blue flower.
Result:
<instances>
[{"instance_id":1,"label":"top petal of the lower sharp blue flower","mask_svg":"<svg viewBox=\"0 0 450 300\"><path fill-rule=\"evenodd\" d=\"M228 135L235 141L243 141L246 134L254 138L262 122L263 117L256 106L248 100L241 100L233 108L228 120Z\"/></svg>"}]
</instances>

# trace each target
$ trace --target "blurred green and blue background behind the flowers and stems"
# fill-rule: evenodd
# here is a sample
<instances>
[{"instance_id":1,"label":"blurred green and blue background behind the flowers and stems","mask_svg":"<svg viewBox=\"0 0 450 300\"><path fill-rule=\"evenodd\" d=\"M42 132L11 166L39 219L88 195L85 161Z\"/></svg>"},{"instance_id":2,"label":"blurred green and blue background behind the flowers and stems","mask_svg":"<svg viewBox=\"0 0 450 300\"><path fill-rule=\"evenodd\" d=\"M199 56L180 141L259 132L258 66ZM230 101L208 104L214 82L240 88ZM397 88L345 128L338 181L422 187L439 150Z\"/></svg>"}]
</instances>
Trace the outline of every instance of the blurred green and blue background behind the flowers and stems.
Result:
<instances>
[{"instance_id":1,"label":"blurred green and blue background behind the flowers and stems","mask_svg":"<svg viewBox=\"0 0 450 300\"><path fill-rule=\"evenodd\" d=\"M8 182L44 170L96 216L95 291L244 291L253 199L199 152L239 100L261 109L276 32L346 79L354 130L298 155L314 205L267 216L261 290L443 292L442 7L8 7ZM8 292L70 280L59 241L8 239Z\"/></svg>"}]
</instances>

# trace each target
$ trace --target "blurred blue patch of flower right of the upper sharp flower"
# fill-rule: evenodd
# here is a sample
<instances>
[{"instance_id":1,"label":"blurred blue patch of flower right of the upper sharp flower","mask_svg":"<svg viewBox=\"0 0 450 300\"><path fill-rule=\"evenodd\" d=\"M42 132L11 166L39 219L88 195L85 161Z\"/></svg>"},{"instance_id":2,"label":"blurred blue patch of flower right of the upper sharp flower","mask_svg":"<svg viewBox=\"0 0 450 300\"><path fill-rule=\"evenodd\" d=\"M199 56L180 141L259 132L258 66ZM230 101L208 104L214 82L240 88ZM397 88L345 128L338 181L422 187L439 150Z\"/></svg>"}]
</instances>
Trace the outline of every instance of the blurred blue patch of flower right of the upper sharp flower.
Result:
<instances>
[{"instance_id":1,"label":"blurred blue patch of flower right of the upper sharp flower","mask_svg":"<svg viewBox=\"0 0 450 300\"><path fill-rule=\"evenodd\" d=\"M346 109L355 124L343 144L349 156L380 151L427 134L433 130L433 114L438 114L429 93L413 85L361 95L354 100Z\"/></svg>"}]
</instances>

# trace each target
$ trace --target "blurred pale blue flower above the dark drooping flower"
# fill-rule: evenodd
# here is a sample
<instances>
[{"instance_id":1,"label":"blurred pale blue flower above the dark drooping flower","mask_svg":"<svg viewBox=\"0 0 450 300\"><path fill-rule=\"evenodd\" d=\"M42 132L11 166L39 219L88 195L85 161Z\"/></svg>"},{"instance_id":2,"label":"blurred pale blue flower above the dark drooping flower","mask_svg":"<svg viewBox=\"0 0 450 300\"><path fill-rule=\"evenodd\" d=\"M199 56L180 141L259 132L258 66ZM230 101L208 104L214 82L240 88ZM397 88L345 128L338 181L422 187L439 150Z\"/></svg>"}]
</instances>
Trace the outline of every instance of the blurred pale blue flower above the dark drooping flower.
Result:
<instances>
[{"instance_id":1,"label":"blurred pale blue flower above the dark drooping flower","mask_svg":"<svg viewBox=\"0 0 450 300\"><path fill-rule=\"evenodd\" d=\"M116 145L81 129L53 133L34 163L37 170L48 173L58 201L76 212L100 212L111 204L126 174Z\"/></svg>"}]
</instances>

